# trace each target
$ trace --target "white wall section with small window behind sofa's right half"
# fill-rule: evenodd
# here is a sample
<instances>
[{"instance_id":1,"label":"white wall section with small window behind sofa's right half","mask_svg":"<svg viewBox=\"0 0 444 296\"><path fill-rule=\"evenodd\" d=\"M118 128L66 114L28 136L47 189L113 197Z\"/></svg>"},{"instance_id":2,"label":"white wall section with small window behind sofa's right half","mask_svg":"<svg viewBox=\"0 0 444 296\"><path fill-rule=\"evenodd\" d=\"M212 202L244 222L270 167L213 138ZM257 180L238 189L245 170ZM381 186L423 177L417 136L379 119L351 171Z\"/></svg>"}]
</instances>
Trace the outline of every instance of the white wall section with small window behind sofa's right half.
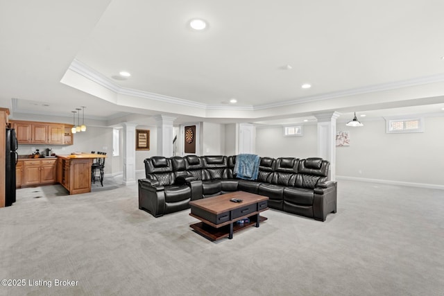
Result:
<instances>
[{"instance_id":1,"label":"white wall section with small window behind sofa's right half","mask_svg":"<svg viewBox=\"0 0 444 296\"><path fill-rule=\"evenodd\" d=\"M256 154L260 157L317 156L317 125L304 125L302 137L284 137L282 126L256 128Z\"/></svg>"}]
</instances>

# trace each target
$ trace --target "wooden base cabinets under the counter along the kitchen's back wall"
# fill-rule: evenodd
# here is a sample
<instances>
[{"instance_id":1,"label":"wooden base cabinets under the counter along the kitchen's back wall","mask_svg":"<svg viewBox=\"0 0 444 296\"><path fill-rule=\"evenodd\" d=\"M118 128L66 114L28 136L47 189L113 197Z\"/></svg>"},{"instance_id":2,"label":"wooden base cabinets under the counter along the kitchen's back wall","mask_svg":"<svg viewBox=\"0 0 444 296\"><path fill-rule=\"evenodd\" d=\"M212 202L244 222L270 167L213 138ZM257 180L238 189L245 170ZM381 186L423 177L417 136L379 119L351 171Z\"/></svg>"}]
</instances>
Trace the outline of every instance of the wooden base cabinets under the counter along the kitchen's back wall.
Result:
<instances>
[{"instance_id":1,"label":"wooden base cabinets under the counter along the kitchen's back wall","mask_svg":"<svg viewBox=\"0 0 444 296\"><path fill-rule=\"evenodd\" d=\"M23 186L56 183L56 161L57 159L24 160Z\"/></svg>"}]
</instances>

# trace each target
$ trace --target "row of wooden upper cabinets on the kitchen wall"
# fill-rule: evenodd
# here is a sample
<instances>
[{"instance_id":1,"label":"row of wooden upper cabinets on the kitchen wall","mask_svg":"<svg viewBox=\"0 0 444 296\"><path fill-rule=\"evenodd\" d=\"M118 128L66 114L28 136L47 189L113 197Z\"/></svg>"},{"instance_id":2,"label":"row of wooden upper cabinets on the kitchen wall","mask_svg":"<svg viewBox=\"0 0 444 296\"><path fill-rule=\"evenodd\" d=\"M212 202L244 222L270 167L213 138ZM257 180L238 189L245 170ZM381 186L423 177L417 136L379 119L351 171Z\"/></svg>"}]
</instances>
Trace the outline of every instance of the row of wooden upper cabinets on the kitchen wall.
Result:
<instances>
[{"instance_id":1,"label":"row of wooden upper cabinets on the kitchen wall","mask_svg":"<svg viewBox=\"0 0 444 296\"><path fill-rule=\"evenodd\" d=\"M19 144L72 145L72 125L37 121L11 121Z\"/></svg>"}]
</instances>

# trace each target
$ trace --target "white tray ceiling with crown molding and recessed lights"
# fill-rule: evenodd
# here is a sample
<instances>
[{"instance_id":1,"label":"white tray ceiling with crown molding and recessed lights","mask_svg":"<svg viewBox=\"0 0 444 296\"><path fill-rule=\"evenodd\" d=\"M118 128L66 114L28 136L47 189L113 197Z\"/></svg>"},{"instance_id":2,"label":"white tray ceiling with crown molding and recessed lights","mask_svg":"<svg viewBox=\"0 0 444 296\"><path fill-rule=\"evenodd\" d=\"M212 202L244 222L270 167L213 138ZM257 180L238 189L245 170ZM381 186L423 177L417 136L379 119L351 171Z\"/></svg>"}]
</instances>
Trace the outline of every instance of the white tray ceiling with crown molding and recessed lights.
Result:
<instances>
[{"instance_id":1,"label":"white tray ceiling with crown molding and recessed lights","mask_svg":"<svg viewBox=\"0 0 444 296\"><path fill-rule=\"evenodd\" d=\"M362 2L1 1L0 103L112 123L444 116L444 1Z\"/></svg>"}]
</instances>

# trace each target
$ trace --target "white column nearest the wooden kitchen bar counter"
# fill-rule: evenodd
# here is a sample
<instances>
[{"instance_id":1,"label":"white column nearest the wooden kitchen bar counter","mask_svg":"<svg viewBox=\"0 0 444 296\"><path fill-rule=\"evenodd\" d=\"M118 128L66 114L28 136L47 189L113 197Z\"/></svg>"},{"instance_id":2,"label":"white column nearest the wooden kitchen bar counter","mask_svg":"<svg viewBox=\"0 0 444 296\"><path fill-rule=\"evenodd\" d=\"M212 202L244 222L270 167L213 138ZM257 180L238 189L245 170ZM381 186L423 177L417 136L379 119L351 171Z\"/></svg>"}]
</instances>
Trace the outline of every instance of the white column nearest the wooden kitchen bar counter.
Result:
<instances>
[{"instance_id":1,"label":"white column nearest the wooden kitchen bar counter","mask_svg":"<svg viewBox=\"0 0 444 296\"><path fill-rule=\"evenodd\" d=\"M124 122L123 125L123 184L136 183L136 126L137 123Z\"/></svg>"}]
</instances>

